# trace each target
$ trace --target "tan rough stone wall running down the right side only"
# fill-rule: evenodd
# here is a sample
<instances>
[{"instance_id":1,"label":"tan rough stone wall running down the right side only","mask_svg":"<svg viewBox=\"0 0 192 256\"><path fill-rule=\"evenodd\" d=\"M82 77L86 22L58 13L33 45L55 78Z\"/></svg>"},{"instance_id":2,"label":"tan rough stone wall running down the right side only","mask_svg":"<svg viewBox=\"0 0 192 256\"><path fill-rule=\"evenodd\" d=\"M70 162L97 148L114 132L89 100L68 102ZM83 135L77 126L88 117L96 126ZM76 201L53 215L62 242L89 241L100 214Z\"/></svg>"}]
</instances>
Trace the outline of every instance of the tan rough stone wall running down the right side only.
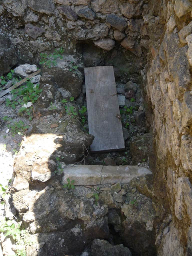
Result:
<instances>
[{"instance_id":1,"label":"tan rough stone wall running down the right side only","mask_svg":"<svg viewBox=\"0 0 192 256\"><path fill-rule=\"evenodd\" d=\"M159 47L151 48L147 72L158 159L154 195L165 207L159 209L163 225L157 224L156 246L158 255L191 255L192 3L162 2L165 33ZM166 206L172 221L165 217Z\"/></svg>"}]
</instances>

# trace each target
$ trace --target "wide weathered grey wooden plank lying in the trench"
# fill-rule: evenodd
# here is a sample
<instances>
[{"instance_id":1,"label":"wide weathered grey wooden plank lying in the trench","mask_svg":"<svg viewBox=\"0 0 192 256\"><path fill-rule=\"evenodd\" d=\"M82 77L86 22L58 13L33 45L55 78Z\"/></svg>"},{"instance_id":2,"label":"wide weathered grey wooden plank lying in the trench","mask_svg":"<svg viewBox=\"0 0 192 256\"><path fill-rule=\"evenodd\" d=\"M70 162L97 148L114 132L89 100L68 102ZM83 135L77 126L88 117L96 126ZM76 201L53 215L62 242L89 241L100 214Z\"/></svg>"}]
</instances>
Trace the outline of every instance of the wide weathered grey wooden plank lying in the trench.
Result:
<instances>
[{"instance_id":1,"label":"wide weathered grey wooden plank lying in the trench","mask_svg":"<svg viewBox=\"0 0 192 256\"><path fill-rule=\"evenodd\" d=\"M85 68L92 152L123 150L124 139L113 66Z\"/></svg>"}]
</instances>

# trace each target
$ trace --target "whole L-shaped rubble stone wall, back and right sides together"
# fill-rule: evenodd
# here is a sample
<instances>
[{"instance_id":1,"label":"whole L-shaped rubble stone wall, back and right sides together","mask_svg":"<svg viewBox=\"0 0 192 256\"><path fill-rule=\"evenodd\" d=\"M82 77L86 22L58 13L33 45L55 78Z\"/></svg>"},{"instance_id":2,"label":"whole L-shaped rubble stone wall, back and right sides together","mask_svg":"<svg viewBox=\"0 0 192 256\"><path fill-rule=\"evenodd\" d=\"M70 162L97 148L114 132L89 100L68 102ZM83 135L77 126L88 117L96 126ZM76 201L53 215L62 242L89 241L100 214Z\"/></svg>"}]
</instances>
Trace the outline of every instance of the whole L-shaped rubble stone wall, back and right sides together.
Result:
<instances>
[{"instance_id":1,"label":"whole L-shaped rubble stone wall, back and right sides together","mask_svg":"<svg viewBox=\"0 0 192 256\"><path fill-rule=\"evenodd\" d=\"M40 52L55 47L74 53L80 43L99 47L103 56L129 53L151 105L146 126L157 155L158 255L192 254L191 9L190 0L0 0L0 33L10 39L7 53L0 50L4 72L18 62L36 63Z\"/></svg>"}]
</instances>

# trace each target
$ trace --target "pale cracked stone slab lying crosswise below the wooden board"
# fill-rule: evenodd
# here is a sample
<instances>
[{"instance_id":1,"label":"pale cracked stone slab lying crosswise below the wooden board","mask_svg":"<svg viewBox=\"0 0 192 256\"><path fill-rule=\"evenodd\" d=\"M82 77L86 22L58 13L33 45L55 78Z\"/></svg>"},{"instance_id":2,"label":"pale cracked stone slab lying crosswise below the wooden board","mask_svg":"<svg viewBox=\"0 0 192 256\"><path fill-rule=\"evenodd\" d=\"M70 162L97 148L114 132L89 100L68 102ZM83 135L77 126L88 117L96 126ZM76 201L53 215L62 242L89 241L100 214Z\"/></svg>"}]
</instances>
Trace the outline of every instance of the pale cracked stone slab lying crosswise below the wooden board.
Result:
<instances>
[{"instance_id":1,"label":"pale cracked stone slab lying crosswise below the wooden board","mask_svg":"<svg viewBox=\"0 0 192 256\"><path fill-rule=\"evenodd\" d=\"M74 180L74 185L101 185L112 183L129 183L133 178L152 174L145 167L137 165L75 165L66 166L63 170L62 184L67 183L67 178Z\"/></svg>"}]
</instances>

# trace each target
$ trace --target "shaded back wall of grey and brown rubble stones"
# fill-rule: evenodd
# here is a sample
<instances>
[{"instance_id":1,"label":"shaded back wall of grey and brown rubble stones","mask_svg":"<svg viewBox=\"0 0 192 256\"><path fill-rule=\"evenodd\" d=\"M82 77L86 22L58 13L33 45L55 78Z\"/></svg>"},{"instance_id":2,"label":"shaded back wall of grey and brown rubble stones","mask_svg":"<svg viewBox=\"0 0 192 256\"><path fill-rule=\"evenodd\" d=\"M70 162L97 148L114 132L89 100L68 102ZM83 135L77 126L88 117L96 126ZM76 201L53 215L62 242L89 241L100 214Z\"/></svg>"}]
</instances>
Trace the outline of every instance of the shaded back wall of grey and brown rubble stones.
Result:
<instances>
[{"instance_id":1,"label":"shaded back wall of grey and brown rubble stones","mask_svg":"<svg viewBox=\"0 0 192 256\"><path fill-rule=\"evenodd\" d=\"M146 3L145 3L146 2ZM19 59L31 61L42 51L77 41L92 41L109 51L117 45L141 57L148 48L148 1L19 0L0 1L0 33L10 37ZM158 20L154 21L156 24Z\"/></svg>"}]
</instances>

